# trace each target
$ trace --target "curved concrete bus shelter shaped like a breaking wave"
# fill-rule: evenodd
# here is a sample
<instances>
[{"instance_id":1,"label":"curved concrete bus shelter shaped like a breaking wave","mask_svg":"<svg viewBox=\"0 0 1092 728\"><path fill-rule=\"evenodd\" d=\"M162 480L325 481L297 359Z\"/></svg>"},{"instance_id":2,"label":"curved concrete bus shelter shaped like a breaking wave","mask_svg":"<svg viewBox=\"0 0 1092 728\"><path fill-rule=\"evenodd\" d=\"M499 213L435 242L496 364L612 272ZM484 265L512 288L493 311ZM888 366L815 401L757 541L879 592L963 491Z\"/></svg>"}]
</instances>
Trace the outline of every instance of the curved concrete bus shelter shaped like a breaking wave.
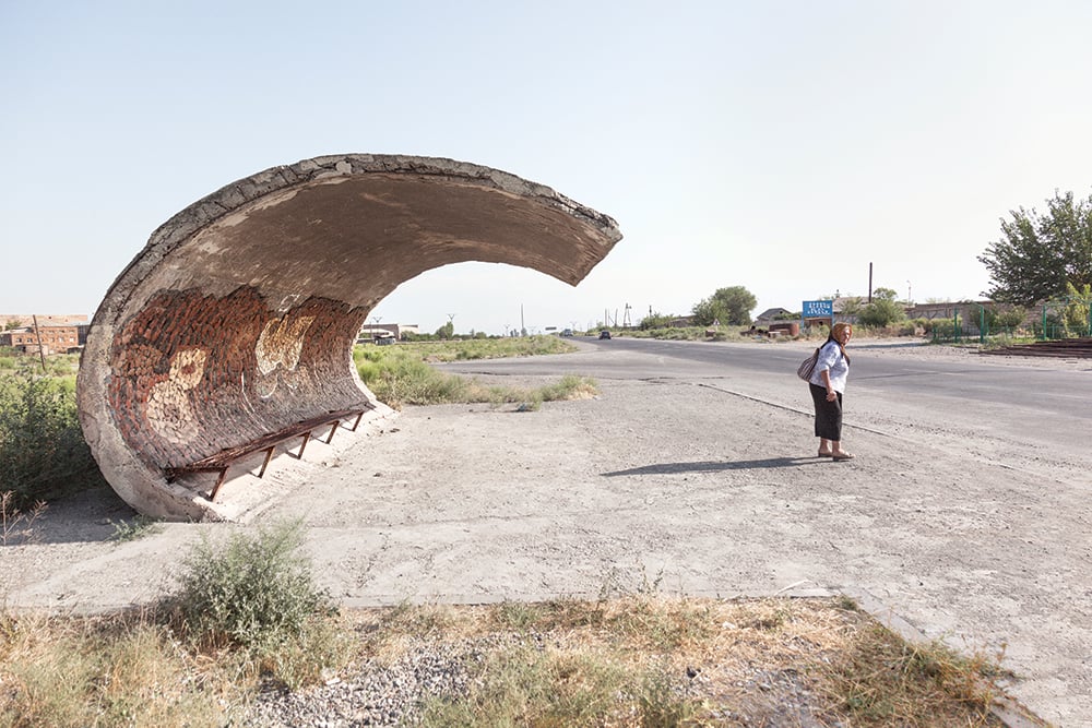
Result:
<instances>
[{"instance_id":1,"label":"curved concrete bus shelter shaped like a breaking wave","mask_svg":"<svg viewBox=\"0 0 1092 728\"><path fill-rule=\"evenodd\" d=\"M204 475L165 473L331 411L392 413L352 347L400 284L466 261L575 285L621 239L554 190L451 159L349 154L274 167L152 234L95 313L80 422L107 480L141 513L232 518Z\"/></svg>"}]
</instances>

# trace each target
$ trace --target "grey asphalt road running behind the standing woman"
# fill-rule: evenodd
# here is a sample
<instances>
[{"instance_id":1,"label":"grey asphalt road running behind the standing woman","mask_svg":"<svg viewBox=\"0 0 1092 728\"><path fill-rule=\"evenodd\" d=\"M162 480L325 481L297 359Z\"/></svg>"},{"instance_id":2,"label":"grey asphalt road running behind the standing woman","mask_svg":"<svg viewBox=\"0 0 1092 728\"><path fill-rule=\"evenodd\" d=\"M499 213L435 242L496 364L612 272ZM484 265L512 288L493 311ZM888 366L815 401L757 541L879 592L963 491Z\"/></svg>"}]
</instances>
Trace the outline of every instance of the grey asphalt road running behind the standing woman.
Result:
<instances>
[{"instance_id":1,"label":"grey asphalt road running behind the standing woman","mask_svg":"<svg viewBox=\"0 0 1092 728\"><path fill-rule=\"evenodd\" d=\"M448 365L466 373L580 373L607 379L722 377L748 396L764 398L785 382L797 383L796 366L807 355L799 344L717 344L615 337L573 339L580 346L637 355L581 361L575 371L563 357L490 360ZM927 344L873 341L851 343L847 396L901 401L941 419L959 420L1072 453L1088 449L1092 435L1092 361L1087 368L1056 369L1048 362L969 356L959 361L905 356ZM773 386L771 386L773 384ZM852 399L851 399L852 404ZM847 407L853 417L852 406Z\"/></svg>"}]
</instances>

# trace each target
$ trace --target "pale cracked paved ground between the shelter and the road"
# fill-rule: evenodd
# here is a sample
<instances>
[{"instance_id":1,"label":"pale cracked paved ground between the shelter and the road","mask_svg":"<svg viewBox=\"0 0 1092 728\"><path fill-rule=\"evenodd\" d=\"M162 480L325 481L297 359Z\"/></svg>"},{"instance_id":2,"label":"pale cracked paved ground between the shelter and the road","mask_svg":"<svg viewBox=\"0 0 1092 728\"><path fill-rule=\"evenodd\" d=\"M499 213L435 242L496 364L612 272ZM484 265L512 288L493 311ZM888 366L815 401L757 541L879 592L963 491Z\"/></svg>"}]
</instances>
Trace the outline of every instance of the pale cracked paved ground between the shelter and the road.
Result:
<instances>
[{"instance_id":1,"label":"pale cracked paved ground between the shelter and the road","mask_svg":"<svg viewBox=\"0 0 1092 728\"><path fill-rule=\"evenodd\" d=\"M900 353L911 355L968 356ZM568 356L579 371L618 354ZM1092 371L1006 359L996 366ZM844 592L927 639L1004 651L1016 697L1059 726L1092 725L1087 451L1029 451L974 413L851 399L851 381L857 458L833 464L814 457L792 377L761 382L761 396L709 375L598 381L598 397L538 411L415 407L378 434L276 458L263 484L276 498L244 524L158 524L117 542L133 514L110 491L58 503L0 550L0 597L73 611L146 602L198 539L302 518L320 582L348 607L653 583L722 597Z\"/></svg>"}]
</instances>

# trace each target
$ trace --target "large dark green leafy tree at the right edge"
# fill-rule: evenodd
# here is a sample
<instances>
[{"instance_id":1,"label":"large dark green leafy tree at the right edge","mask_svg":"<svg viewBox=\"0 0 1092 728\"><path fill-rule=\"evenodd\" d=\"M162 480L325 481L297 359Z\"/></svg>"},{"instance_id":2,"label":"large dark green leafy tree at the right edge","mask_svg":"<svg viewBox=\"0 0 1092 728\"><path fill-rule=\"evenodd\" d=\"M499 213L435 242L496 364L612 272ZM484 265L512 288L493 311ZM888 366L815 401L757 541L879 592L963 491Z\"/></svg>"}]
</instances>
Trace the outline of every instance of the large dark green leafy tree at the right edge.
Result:
<instances>
[{"instance_id":1,"label":"large dark green leafy tree at the right edge","mask_svg":"<svg viewBox=\"0 0 1092 728\"><path fill-rule=\"evenodd\" d=\"M1068 286L1080 290L1092 284L1092 196L1073 200L1073 193L1046 201L1048 211L1010 211L1001 219L1001 239L978 256L989 271L990 290L997 301L1032 306L1065 297Z\"/></svg>"}]
</instances>

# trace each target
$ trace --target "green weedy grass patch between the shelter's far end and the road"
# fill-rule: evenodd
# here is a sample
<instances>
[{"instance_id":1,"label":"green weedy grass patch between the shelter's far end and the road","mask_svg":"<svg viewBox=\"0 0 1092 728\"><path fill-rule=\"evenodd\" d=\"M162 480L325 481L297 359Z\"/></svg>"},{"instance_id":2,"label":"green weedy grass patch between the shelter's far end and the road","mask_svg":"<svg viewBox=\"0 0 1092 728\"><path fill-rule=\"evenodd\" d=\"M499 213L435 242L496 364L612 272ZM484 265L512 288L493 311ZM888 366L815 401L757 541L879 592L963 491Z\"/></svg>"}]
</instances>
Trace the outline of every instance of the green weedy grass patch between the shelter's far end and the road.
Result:
<instances>
[{"instance_id":1,"label":"green weedy grass patch between the shelter's far end and the road","mask_svg":"<svg viewBox=\"0 0 1092 728\"><path fill-rule=\"evenodd\" d=\"M594 380L566 375L542 386L486 385L476 379L450 374L431 367L442 361L492 359L574 351L558 336L475 338L448 342L410 342L379 346L359 344L353 350L360 379L380 402L401 409L406 405L488 403L536 410L543 402L594 396Z\"/></svg>"}]
</instances>

